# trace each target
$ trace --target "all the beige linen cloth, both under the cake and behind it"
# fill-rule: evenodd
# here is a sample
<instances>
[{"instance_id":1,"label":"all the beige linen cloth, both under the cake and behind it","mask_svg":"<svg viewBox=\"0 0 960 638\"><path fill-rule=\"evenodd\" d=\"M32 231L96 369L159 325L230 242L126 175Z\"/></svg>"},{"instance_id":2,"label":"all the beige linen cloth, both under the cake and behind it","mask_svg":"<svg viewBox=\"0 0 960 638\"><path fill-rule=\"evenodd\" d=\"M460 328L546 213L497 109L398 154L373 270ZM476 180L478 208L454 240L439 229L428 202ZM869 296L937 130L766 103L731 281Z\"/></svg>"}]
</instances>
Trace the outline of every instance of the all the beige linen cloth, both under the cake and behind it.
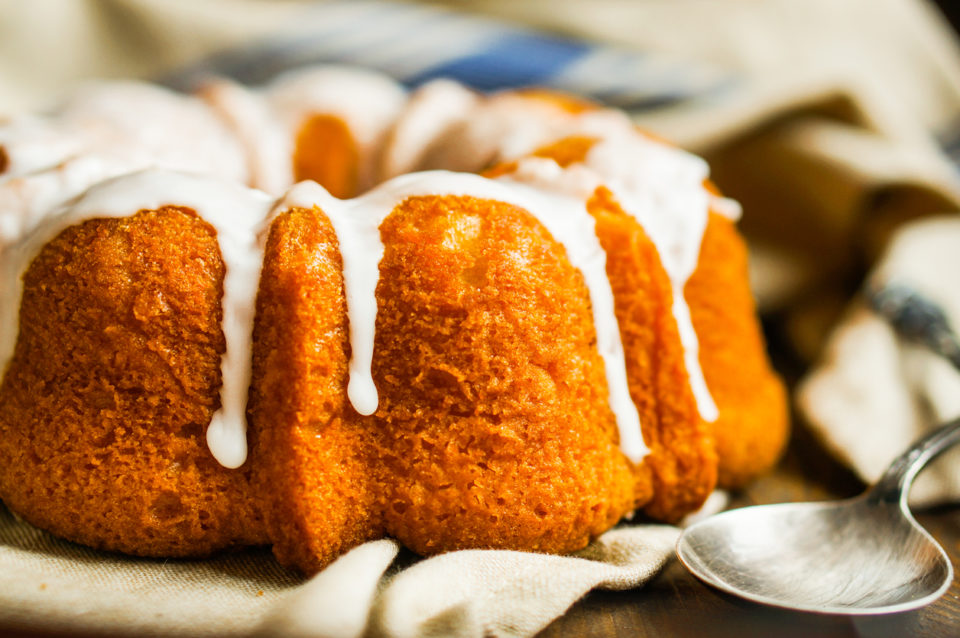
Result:
<instances>
[{"instance_id":1,"label":"all the beige linen cloth, both under the cake and behind it","mask_svg":"<svg viewBox=\"0 0 960 638\"><path fill-rule=\"evenodd\" d=\"M761 307L784 319L811 359L903 222L960 208L960 177L941 147L960 122L960 52L923 2L450 4L732 72L727 90L638 121L706 155L742 201ZM282 33L304 11L294 1L0 0L0 113L41 105L87 78L172 72ZM911 226L894 246L936 252L936 263L956 272L956 220L923 223L944 226ZM958 243L941 252L926 244L948 236ZM876 276L911 262L890 254ZM944 303L960 299L960 289L941 290L936 265L924 272L933 273L920 275L925 290ZM827 446L871 479L914 434L960 411L960 386L865 313L847 313L801 407ZM884 396L899 411L876 419L867 397L881 387L896 388L897 397ZM949 480L934 480L928 494L942 496ZM466 551L419 562L396 559L396 544L381 540L304 583L266 550L130 559L59 541L0 509L0 624L183 636L527 636L590 589L647 582L678 533L627 524L574 556Z\"/></svg>"}]
</instances>

